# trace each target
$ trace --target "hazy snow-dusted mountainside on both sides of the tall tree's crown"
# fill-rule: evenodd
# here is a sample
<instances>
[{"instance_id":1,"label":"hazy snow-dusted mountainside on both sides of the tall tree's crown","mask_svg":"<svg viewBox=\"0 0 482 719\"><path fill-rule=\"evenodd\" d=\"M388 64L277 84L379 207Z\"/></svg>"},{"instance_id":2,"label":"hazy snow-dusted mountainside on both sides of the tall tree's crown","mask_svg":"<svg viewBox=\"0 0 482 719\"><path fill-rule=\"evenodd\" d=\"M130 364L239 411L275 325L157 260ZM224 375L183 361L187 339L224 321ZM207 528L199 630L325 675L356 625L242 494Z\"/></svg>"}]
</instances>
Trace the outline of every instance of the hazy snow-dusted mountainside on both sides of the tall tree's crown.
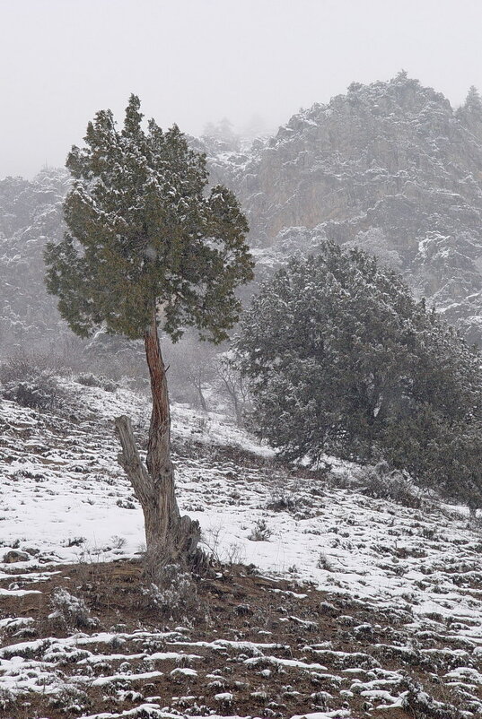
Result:
<instances>
[{"instance_id":1,"label":"hazy snow-dusted mountainside on both sides of the tall tree's crown","mask_svg":"<svg viewBox=\"0 0 482 719\"><path fill-rule=\"evenodd\" d=\"M259 276L322 238L362 247L402 273L482 341L482 101L449 100L401 72L352 83L329 104L291 117L276 136L239 149L229 137L193 139L212 181L231 186L250 219ZM42 249L62 234L63 170L0 182L4 346L57 336L43 287Z\"/></svg>"}]
</instances>

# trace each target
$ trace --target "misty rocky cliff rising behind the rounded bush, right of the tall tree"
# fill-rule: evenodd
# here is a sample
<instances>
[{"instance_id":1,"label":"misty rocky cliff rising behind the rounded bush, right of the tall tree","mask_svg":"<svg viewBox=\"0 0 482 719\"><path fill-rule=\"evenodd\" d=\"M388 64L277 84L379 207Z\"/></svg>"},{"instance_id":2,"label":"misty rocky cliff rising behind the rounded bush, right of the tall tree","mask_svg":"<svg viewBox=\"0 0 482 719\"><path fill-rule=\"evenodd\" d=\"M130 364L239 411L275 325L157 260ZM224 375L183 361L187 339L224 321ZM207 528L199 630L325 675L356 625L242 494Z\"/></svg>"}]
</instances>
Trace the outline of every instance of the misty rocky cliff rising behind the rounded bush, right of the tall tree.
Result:
<instances>
[{"instance_id":1,"label":"misty rocky cliff rising behind the rounded bush, right of the tall tree","mask_svg":"<svg viewBox=\"0 0 482 719\"><path fill-rule=\"evenodd\" d=\"M216 177L248 212L259 256L321 237L381 256L471 342L482 341L482 103L454 111L406 74L354 83L291 118L249 155L217 153Z\"/></svg>"}]
</instances>

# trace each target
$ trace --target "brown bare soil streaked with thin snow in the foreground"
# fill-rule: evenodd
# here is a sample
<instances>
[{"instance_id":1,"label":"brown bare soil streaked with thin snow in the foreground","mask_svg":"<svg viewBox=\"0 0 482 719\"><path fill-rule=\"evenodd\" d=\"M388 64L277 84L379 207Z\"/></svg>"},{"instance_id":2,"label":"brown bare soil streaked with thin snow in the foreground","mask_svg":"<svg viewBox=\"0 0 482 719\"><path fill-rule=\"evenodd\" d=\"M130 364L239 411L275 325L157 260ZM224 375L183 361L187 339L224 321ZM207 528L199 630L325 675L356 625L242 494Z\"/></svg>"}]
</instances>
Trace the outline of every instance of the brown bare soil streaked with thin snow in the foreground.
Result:
<instances>
[{"instance_id":1,"label":"brown bare soil streaked with thin snow in the foreground","mask_svg":"<svg viewBox=\"0 0 482 719\"><path fill-rule=\"evenodd\" d=\"M451 715L416 714L390 706L395 697L408 697L413 681L445 706L469 708L467 693L464 699L460 687L443 679L467 665L467 653L453 637L443 637L440 626L413 637L408 611L251 572L236 566L197 576L172 612L145 593L149 580L136 561L62 565L48 567L43 577L32 571L4 579L4 588L39 593L2 600L3 618L32 619L4 627L2 645L9 648L0 651L2 661L12 660L18 644L36 679L30 686L26 681L14 706L4 699L0 716L120 716L144 707L130 716L157 717L163 709L267 717L337 716L339 710L340 717L366 717L377 706L386 708L374 715L390 719L457 716L455 709ZM75 626L74 615L49 619L59 587L84 600L95 626ZM19 664L22 670L28 675L29 666ZM482 700L481 689L473 687L474 699ZM416 697L414 689L410 696Z\"/></svg>"}]
</instances>

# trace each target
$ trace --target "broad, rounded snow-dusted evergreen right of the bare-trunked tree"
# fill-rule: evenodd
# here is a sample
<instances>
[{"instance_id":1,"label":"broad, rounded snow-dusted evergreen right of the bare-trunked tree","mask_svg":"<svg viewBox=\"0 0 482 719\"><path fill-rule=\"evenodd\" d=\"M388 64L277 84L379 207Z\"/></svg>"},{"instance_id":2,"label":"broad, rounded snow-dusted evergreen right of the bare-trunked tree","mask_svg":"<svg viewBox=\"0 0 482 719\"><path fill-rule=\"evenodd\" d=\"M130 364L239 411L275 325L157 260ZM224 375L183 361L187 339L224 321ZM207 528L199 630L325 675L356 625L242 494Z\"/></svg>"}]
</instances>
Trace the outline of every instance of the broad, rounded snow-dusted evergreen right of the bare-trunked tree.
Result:
<instances>
[{"instance_id":1,"label":"broad, rounded snow-dusted evergreen right of the bare-trunked tree","mask_svg":"<svg viewBox=\"0 0 482 719\"><path fill-rule=\"evenodd\" d=\"M254 418L288 459L387 459L479 500L480 355L374 257L325 242L241 322Z\"/></svg>"}]
</instances>

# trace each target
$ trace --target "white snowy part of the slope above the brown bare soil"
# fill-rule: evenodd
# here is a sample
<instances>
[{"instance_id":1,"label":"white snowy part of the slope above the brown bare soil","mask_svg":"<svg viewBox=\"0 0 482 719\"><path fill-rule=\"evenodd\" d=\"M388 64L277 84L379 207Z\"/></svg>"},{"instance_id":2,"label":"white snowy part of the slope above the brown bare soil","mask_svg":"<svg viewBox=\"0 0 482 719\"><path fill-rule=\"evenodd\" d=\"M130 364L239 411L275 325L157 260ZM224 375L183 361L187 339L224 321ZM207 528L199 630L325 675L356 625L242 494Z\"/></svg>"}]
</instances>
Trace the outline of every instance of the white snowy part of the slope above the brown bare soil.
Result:
<instances>
[{"instance_id":1,"label":"white snowy part of the slope above the brown bare soil","mask_svg":"<svg viewBox=\"0 0 482 719\"><path fill-rule=\"evenodd\" d=\"M82 397L81 410L68 418L0 403L3 579L15 579L7 575L12 560L17 580L37 567L39 582L42 572L49 576L49 563L107 562L143 549L142 512L118 467L110 420L127 413L141 437L149 408L127 390L110 393L63 381ZM222 418L185 406L174 406L172 414L180 507L200 522L215 556L252 563L268 576L311 582L377 611L408 612L413 642L397 645L397 652L415 651L417 632L437 628L450 638L443 651L457 659L448 665L447 683L482 685L476 668L482 656L482 536L466 516L341 489L353 470L343 463L335 463L331 481L290 474L273 463L266 446ZM241 452L250 455L241 461ZM1 590L10 597L28 592L15 581ZM15 620L2 620L0 632ZM454 637L458 648L450 644ZM313 662L322 664L331 650L321 644L312 651L318 652ZM8 651L2 656L8 681L0 680L0 688L11 689L13 659ZM372 691L380 694L380 680ZM398 696L389 697L387 692L384 706L400 706ZM482 712L482 702L478 708ZM316 715L322 716L330 715Z\"/></svg>"}]
</instances>

